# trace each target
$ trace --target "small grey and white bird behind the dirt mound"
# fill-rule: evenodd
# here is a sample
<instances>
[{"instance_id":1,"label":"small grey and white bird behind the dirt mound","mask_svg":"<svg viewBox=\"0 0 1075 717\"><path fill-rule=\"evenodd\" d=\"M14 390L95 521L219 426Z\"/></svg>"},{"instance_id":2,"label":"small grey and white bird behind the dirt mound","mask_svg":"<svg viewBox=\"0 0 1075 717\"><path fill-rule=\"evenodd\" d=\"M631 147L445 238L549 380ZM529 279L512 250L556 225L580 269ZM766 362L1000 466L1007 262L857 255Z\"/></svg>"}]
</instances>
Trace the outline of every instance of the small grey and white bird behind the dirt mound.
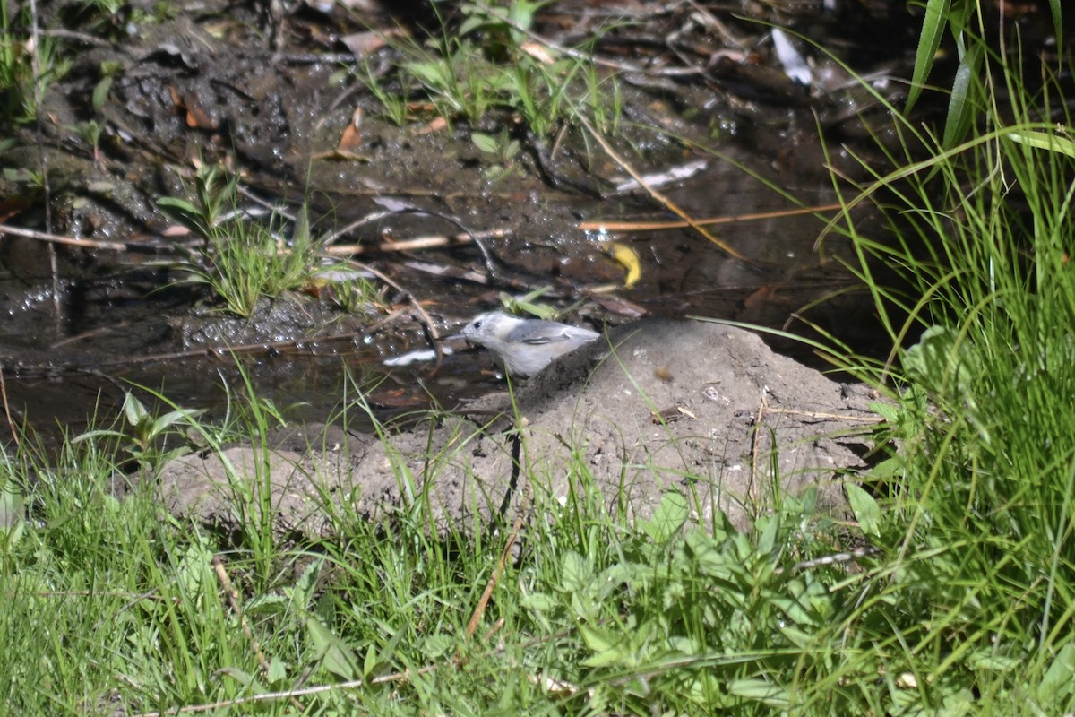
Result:
<instances>
[{"instance_id":1,"label":"small grey and white bird behind the dirt mound","mask_svg":"<svg viewBox=\"0 0 1075 717\"><path fill-rule=\"evenodd\" d=\"M475 316L452 338L485 346L497 355L512 375L532 376L554 360L600 335L596 331L559 321L490 312Z\"/></svg>"}]
</instances>

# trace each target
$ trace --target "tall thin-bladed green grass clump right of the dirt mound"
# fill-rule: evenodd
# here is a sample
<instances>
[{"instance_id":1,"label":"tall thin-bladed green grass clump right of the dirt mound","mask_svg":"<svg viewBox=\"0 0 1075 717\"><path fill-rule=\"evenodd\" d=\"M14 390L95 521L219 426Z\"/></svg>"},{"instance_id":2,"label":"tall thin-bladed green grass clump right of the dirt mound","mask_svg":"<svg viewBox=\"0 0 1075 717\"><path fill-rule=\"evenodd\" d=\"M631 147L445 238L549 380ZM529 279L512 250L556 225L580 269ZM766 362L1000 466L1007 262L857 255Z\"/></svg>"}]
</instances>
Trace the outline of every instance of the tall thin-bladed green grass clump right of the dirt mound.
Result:
<instances>
[{"instance_id":1,"label":"tall thin-bladed green grass clump right of the dirt mound","mask_svg":"<svg viewBox=\"0 0 1075 717\"><path fill-rule=\"evenodd\" d=\"M975 42L989 63L968 94L970 139L946 148L904 120L905 146L930 158L908 149L844 216L901 359L898 404L884 410L894 450L866 484L887 508L891 553L845 626L868 656L848 666L873 664L887 685L864 701L874 708L1064 714L1075 706L1070 102L1059 68L1023 81L1017 41ZM883 236L858 221L862 201L887 217ZM878 264L900 282L883 282Z\"/></svg>"}]
</instances>

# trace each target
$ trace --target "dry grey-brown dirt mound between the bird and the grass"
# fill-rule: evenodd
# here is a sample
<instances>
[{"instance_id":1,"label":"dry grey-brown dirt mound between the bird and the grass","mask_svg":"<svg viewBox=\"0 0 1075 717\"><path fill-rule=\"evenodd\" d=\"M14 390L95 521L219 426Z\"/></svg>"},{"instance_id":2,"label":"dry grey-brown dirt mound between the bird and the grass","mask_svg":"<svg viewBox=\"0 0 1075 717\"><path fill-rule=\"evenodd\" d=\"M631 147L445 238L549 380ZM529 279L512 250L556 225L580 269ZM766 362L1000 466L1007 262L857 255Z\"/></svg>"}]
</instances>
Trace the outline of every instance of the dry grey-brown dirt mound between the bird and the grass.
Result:
<instances>
[{"instance_id":1,"label":"dry grey-brown dirt mound between the bird and the grass","mask_svg":"<svg viewBox=\"0 0 1075 717\"><path fill-rule=\"evenodd\" d=\"M514 516L529 490L567 497L585 471L613 510L646 516L672 489L697 497L697 519L719 508L746 527L777 487L817 486L819 506L843 511L840 476L863 468L871 398L750 332L643 321L386 441L307 427L271 449L173 461L160 490L176 515L226 530L242 519L235 496L269 486L260 504L281 531L331 533L334 505L379 519L424 496L441 530L468 531Z\"/></svg>"}]
</instances>

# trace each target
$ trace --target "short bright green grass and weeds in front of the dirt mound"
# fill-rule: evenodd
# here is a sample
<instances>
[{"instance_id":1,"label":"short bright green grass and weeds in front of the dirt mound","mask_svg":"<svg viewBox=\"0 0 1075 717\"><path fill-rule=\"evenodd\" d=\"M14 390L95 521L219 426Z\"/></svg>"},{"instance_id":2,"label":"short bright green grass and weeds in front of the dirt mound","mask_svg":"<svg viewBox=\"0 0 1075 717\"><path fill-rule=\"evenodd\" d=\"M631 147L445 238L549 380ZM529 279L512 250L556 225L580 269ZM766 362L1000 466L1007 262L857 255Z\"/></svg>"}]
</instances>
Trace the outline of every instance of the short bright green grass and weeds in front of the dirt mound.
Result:
<instances>
[{"instance_id":1,"label":"short bright green grass and weeds in front of the dirt mound","mask_svg":"<svg viewBox=\"0 0 1075 717\"><path fill-rule=\"evenodd\" d=\"M224 429L172 414L154 438L175 446L194 425L209 448L238 430L260 450L277 414L247 404ZM116 463L132 448L144 457L145 441L121 433L72 444L53 465L29 448L4 456L3 479L30 506L0 556L0 636L20 645L0 657L13 713L257 700L268 714L769 714L838 662L829 642L817 663L812 635L865 594L833 590L838 568L791 570L842 534L813 492L785 498L749 535L719 517L690 527L677 493L631 522L608 512L626 499L602 496L579 455L565 496L526 476L521 532L510 516L494 532L438 535L424 490L435 476L398 461L399 510L370 521L326 497L333 535L296 545L238 476L238 535L168 516L149 476L113 498ZM501 569L508 536L519 550Z\"/></svg>"}]
</instances>

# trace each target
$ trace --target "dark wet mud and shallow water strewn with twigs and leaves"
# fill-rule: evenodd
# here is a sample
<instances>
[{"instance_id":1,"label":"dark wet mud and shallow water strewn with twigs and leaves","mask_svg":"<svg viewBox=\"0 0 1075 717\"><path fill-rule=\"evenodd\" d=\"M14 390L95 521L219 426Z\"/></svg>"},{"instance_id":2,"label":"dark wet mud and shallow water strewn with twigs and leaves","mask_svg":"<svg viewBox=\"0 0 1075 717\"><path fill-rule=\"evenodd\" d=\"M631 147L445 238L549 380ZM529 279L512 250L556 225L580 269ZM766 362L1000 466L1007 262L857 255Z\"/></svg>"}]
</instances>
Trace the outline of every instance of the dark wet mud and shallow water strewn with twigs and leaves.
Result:
<instances>
[{"instance_id":1,"label":"dark wet mud and shallow water strewn with twigs and leaves","mask_svg":"<svg viewBox=\"0 0 1075 717\"><path fill-rule=\"evenodd\" d=\"M439 362L398 370L382 361L430 345L502 293L542 287L542 301L572 306L571 320L594 328L698 315L804 333L813 325L879 350L872 309L841 262L847 247L835 234L818 244L832 211L775 214L836 201L830 168L861 176L852 149L868 152L886 131L878 97L902 100L894 78L908 73L916 18L891 3L837 5L714 6L694 16L686 5L628 3L616 9L631 18L621 30L605 26L610 9L585 2L542 11L535 33L564 46L589 42L587 52L607 60L600 71L619 77L616 96L602 98L620 107L618 124L597 133L650 177L662 203L630 187L624 162L577 126L536 137L496 103L476 120L442 123L424 98L402 125L390 121L359 75L413 94L395 74L406 58L377 42L358 49L356 38L372 28L363 37L374 41L388 32L435 40L443 31L421 3L395 15L376 4L302 5L275 17L254 4L176 3L152 21L103 29L90 23L100 18L80 27L69 5L46 4L48 27L78 28L64 35L77 52L39 125L18 128L0 154L12 170L0 183L2 220L25 230L0 239L9 411L37 431L78 432L132 384L188 407L219 406L223 386L242 385L235 359L259 393L305 418L324 419L347 385L367 390L385 416L452 405L498 385L482 372L482 354L456 346ZM458 28L452 13L442 19ZM804 84L777 57L766 21L835 57L794 39L808 60ZM610 67L617 63L631 70ZM34 178L39 132L47 226ZM475 133L516 149L496 156ZM159 200L189 198L197 168L209 164L238 177L234 209L250 221L304 206L312 233L331 238L326 254L360 247L350 268L377 288L376 310L345 311L319 282L236 318L186 283L184 260L201 240ZM661 184L661 173L676 171ZM693 219L760 218L714 225L719 244L691 227L603 229L674 221L671 205ZM440 245L398 248L429 238ZM630 286L612 241L636 258Z\"/></svg>"}]
</instances>

